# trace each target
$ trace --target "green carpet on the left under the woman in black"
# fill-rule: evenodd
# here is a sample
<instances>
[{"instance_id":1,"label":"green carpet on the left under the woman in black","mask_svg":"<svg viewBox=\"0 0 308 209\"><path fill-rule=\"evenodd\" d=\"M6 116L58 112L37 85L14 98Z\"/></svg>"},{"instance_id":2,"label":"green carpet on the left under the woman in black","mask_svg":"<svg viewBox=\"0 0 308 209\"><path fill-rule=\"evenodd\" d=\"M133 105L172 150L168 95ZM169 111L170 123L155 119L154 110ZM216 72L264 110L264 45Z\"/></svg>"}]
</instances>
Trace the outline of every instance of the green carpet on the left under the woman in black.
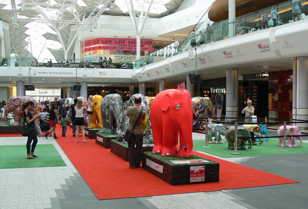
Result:
<instances>
[{"instance_id":1,"label":"green carpet on the left under the woman in black","mask_svg":"<svg viewBox=\"0 0 308 209\"><path fill-rule=\"evenodd\" d=\"M36 159L27 159L25 145L0 146L0 169L24 167L57 167L66 166L53 144L38 144L34 154Z\"/></svg>"}]
</instances>

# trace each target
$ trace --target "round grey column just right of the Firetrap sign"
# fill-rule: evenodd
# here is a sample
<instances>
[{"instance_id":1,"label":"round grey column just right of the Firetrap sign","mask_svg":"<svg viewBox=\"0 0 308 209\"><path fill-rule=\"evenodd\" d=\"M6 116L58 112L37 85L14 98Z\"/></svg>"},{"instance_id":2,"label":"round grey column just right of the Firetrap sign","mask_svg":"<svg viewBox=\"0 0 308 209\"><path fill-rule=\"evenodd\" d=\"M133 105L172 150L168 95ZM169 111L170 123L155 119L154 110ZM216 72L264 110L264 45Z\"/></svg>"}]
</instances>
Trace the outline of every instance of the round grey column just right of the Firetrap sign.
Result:
<instances>
[{"instance_id":1,"label":"round grey column just right of the Firetrap sign","mask_svg":"<svg viewBox=\"0 0 308 209\"><path fill-rule=\"evenodd\" d=\"M238 117L238 68L226 69L226 117ZM231 121L234 119L231 119Z\"/></svg>"}]
</instances>

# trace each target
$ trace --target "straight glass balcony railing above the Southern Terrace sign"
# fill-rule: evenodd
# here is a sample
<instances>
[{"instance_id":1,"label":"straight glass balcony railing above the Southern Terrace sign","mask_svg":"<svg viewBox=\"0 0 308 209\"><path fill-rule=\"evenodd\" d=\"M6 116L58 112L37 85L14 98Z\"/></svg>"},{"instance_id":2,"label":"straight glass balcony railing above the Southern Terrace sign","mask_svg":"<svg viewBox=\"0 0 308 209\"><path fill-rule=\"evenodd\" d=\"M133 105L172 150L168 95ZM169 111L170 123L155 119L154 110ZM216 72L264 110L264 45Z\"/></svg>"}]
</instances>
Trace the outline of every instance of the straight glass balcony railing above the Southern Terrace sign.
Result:
<instances>
[{"instance_id":1,"label":"straight glass balcony railing above the Southern Terrace sign","mask_svg":"<svg viewBox=\"0 0 308 209\"><path fill-rule=\"evenodd\" d=\"M89 60L89 59L75 59L65 61L63 58L60 59L38 59L36 62L35 58L20 58L13 54L11 58L0 59L1 67L69 67L69 68L136 68L136 64L132 62L127 62L125 60L112 61L111 66L109 66L109 61L103 60ZM105 62L105 64L104 64Z\"/></svg>"}]
</instances>

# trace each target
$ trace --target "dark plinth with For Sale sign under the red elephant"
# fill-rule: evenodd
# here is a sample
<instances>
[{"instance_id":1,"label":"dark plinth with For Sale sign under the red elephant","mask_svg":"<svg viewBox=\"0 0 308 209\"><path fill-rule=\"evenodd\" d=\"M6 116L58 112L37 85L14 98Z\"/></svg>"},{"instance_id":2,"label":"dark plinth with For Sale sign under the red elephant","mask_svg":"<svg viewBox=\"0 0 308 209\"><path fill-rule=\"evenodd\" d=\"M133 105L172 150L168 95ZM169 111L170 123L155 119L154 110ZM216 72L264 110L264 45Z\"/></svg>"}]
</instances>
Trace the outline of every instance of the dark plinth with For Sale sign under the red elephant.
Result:
<instances>
[{"instance_id":1,"label":"dark plinth with For Sale sign under the red elephant","mask_svg":"<svg viewBox=\"0 0 308 209\"><path fill-rule=\"evenodd\" d=\"M170 162L168 157L157 157L151 152L146 152L142 153L142 168L171 185L219 181L218 162L198 156L194 156L192 159L184 159L187 160L187 163L175 164ZM172 160L183 160L183 158L172 158ZM201 162L204 160L208 162Z\"/></svg>"}]
</instances>

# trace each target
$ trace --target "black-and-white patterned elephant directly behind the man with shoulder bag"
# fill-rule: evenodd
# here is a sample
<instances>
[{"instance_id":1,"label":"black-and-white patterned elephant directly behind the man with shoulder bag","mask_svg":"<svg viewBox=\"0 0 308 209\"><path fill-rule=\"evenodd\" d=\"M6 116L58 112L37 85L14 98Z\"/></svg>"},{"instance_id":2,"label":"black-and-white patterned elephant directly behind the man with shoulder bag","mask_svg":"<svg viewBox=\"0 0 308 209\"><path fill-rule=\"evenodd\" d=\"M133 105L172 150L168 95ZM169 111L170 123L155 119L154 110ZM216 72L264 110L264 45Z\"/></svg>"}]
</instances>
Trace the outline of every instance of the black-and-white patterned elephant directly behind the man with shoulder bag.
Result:
<instances>
[{"instance_id":1,"label":"black-and-white patterned elephant directly behind the man with shoulder bag","mask_svg":"<svg viewBox=\"0 0 308 209\"><path fill-rule=\"evenodd\" d=\"M135 97L141 97L142 102L141 102L141 108L143 111L145 111L147 113L147 128L148 130L143 131L143 144L150 144L153 142L153 134L152 134L152 127L151 127L151 123L150 123L150 115L149 115L149 108L146 104L146 99L145 97L140 94L140 93L136 93L133 94L132 96L130 96L129 101L124 102L123 107L122 107L122 112L120 114L119 120L118 120L118 127L117 127L117 139L118 141L122 141L123 143L127 143L125 142L124 139L124 134L125 134L125 130L128 127L128 122L129 122L129 118L127 117L127 108L129 106L133 106L134 105L134 98Z\"/></svg>"}]
</instances>

